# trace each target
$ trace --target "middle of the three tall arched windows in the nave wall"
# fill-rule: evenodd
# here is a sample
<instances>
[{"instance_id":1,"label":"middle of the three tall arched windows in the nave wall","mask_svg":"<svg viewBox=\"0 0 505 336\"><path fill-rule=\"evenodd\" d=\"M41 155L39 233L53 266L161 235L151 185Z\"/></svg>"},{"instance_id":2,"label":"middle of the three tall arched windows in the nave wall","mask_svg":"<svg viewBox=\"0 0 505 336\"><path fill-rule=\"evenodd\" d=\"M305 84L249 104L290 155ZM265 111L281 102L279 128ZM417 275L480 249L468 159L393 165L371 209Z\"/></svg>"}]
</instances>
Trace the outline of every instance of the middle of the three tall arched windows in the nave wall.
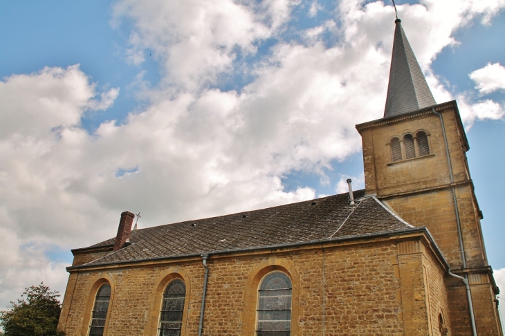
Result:
<instances>
[{"instance_id":1,"label":"middle of the three tall arched windows in the nave wall","mask_svg":"<svg viewBox=\"0 0 505 336\"><path fill-rule=\"evenodd\" d=\"M183 324L186 286L180 279L169 283L163 293L160 316L160 336L179 336Z\"/></svg>"}]
</instances>

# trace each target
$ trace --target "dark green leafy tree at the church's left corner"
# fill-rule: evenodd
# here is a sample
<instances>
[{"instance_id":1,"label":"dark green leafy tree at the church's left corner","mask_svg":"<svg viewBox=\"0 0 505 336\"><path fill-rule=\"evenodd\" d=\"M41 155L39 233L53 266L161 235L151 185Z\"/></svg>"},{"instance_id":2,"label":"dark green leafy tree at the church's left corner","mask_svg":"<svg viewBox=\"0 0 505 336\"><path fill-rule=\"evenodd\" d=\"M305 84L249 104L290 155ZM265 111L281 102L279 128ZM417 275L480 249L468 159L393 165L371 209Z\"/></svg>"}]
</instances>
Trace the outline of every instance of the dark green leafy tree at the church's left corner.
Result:
<instances>
[{"instance_id":1,"label":"dark green leafy tree at the church's left corner","mask_svg":"<svg viewBox=\"0 0 505 336\"><path fill-rule=\"evenodd\" d=\"M48 286L40 283L31 286L17 302L10 301L9 310L0 312L0 326L5 336L55 336L59 312L57 291L51 292Z\"/></svg>"}]
</instances>

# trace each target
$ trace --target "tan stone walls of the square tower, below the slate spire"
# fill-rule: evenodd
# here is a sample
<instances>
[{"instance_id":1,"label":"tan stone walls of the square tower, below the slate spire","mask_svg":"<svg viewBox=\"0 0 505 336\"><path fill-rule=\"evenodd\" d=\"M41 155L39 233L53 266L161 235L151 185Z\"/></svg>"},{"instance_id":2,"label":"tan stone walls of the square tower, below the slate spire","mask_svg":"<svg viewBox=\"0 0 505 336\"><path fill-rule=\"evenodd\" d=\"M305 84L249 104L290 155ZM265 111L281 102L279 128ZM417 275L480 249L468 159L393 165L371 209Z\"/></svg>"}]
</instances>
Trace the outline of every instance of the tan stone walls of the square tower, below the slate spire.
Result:
<instances>
[{"instance_id":1,"label":"tan stone walls of the square tower, below the slate spire","mask_svg":"<svg viewBox=\"0 0 505 336\"><path fill-rule=\"evenodd\" d=\"M363 142L366 193L376 195L407 223L428 228L452 272L469 282L478 335L500 335L498 288L486 260L481 212L466 160L469 147L456 102L357 128ZM394 162L392 138L419 131L428 134L430 154ZM402 143L403 152L404 147ZM464 283L448 277L446 286L452 333L467 335L471 319L465 313L470 308Z\"/></svg>"}]
</instances>

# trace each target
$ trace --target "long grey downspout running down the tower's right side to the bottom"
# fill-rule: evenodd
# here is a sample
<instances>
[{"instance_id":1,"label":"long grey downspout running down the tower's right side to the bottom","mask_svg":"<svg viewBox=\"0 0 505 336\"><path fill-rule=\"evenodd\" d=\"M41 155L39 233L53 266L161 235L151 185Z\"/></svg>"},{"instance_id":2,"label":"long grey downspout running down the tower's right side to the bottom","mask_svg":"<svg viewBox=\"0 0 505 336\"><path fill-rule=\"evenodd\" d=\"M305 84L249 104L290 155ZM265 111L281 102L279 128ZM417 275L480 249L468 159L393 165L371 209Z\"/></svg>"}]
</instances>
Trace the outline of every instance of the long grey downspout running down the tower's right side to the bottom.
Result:
<instances>
[{"instance_id":1,"label":"long grey downspout running down the tower's right side to the bottom","mask_svg":"<svg viewBox=\"0 0 505 336\"><path fill-rule=\"evenodd\" d=\"M454 183L454 176L452 176L452 164L450 162L450 156L449 156L449 146L447 143L447 134L446 134L446 127L443 124L443 119L442 115L435 111L435 109L432 109L432 112L439 115L440 118L440 124L442 127L442 134L443 134L443 142L446 144L446 156L447 156L447 163L449 165L449 176L450 176L450 184L452 185ZM455 212L456 212L456 223L457 223L457 229L458 229L458 236L459 236L459 249L461 250L461 260L463 261L463 269L466 268L466 258L465 258L465 250L463 248L463 235L461 234L461 222L459 221L459 209L458 209L458 203L456 199L456 190L454 185L451 186L452 189L452 199L454 201L455 205ZM477 336L477 328L475 327L475 316L473 315L473 304L472 304L472 293L470 292L470 283L468 283L468 275L465 273L465 277L460 277L459 275L452 274L450 270L448 270L448 274L451 277L455 277L457 279L460 279L463 281L466 287L466 297L468 298L468 309L470 310L470 321L472 322L472 335Z\"/></svg>"}]
</instances>

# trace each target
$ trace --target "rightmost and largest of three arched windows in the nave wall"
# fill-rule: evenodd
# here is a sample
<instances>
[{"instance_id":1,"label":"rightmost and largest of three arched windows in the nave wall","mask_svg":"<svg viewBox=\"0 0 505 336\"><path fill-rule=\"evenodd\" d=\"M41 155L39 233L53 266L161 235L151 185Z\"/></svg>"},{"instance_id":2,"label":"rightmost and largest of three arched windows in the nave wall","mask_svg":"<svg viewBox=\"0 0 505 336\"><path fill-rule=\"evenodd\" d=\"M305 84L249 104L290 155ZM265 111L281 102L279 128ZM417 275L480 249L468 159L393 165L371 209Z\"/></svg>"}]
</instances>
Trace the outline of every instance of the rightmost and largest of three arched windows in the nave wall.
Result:
<instances>
[{"instance_id":1,"label":"rightmost and largest of three arched windows in the nave wall","mask_svg":"<svg viewBox=\"0 0 505 336\"><path fill-rule=\"evenodd\" d=\"M257 336L291 335L291 279L282 272L268 274L258 290Z\"/></svg>"}]
</instances>

